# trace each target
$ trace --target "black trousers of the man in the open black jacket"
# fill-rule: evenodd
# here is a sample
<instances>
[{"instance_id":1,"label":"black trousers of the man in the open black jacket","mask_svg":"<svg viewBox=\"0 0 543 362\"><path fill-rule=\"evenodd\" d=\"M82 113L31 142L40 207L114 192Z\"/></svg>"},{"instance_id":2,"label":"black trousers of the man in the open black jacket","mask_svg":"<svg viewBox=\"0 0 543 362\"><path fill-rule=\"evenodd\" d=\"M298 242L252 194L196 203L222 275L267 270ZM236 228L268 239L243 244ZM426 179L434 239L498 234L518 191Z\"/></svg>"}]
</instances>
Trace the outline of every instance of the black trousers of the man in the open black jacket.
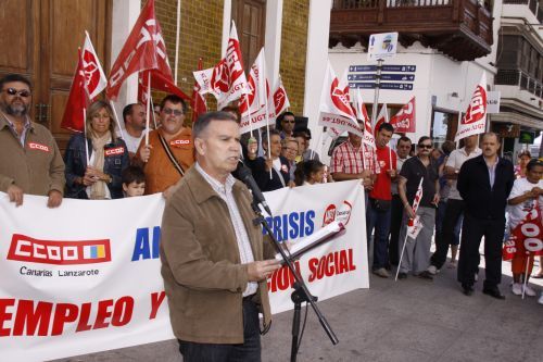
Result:
<instances>
[{"instance_id":1,"label":"black trousers of the man in the open black jacket","mask_svg":"<svg viewBox=\"0 0 543 362\"><path fill-rule=\"evenodd\" d=\"M460 257L458 259L458 282L466 286L473 285L475 273L479 267L479 246L484 236L484 262L487 264L484 288L497 287L502 282L504 230L505 217L481 220L469 214L464 215Z\"/></svg>"}]
</instances>

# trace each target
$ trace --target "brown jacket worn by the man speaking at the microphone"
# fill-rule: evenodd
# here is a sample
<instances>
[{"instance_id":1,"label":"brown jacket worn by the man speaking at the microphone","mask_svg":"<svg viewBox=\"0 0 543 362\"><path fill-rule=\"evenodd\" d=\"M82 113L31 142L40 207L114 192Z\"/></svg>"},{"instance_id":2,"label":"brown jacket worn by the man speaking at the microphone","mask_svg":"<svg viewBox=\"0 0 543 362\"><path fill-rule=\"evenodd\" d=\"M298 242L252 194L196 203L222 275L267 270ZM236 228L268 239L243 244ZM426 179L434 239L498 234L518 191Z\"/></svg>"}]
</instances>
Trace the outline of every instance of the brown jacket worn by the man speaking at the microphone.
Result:
<instances>
[{"instance_id":1,"label":"brown jacket worn by the man speaking at the microphone","mask_svg":"<svg viewBox=\"0 0 543 362\"><path fill-rule=\"evenodd\" d=\"M253 224L251 194L232 187L254 260L270 258L262 228ZM191 167L177 185L162 220L161 260L169 317L178 339L202 344L242 344L242 292L247 264L240 264L236 233L226 202ZM270 323L266 280L258 283L255 301L265 325Z\"/></svg>"}]
</instances>

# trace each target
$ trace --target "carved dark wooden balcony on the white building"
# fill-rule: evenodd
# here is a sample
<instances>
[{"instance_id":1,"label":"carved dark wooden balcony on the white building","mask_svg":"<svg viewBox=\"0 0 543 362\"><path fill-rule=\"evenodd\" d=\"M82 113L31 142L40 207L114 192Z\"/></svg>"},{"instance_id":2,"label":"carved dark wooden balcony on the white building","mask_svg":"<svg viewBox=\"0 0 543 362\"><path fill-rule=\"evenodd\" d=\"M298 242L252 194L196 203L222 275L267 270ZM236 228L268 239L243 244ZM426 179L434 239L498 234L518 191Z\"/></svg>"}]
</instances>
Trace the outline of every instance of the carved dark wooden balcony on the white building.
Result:
<instances>
[{"instance_id":1,"label":"carved dark wooden balcony on the white building","mask_svg":"<svg viewBox=\"0 0 543 362\"><path fill-rule=\"evenodd\" d=\"M457 61L490 53L492 16L477 0L334 0L329 47L367 46L371 34L397 32L404 47L420 41Z\"/></svg>"}]
</instances>

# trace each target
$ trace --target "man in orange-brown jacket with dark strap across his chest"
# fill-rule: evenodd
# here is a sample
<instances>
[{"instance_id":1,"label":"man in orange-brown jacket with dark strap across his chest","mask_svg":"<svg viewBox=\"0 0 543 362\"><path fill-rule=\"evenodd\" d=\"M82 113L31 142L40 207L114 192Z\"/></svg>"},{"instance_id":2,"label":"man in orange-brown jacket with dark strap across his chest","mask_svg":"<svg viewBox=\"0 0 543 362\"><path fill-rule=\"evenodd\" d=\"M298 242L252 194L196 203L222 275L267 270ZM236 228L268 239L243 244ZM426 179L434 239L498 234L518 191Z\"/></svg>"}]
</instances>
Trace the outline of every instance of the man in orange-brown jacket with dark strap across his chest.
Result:
<instances>
[{"instance_id":1,"label":"man in orange-brown jacket with dark strap across his chest","mask_svg":"<svg viewBox=\"0 0 543 362\"><path fill-rule=\"evenodd\" d=\"M161 102L161 126L149 132L149 145L141 139L136 162L146 173L146 195L163 192L168 198L173 186L194 163L194 147L189 127L184 126L187 104L168 95Z\"/></svg>"}]
</instances>

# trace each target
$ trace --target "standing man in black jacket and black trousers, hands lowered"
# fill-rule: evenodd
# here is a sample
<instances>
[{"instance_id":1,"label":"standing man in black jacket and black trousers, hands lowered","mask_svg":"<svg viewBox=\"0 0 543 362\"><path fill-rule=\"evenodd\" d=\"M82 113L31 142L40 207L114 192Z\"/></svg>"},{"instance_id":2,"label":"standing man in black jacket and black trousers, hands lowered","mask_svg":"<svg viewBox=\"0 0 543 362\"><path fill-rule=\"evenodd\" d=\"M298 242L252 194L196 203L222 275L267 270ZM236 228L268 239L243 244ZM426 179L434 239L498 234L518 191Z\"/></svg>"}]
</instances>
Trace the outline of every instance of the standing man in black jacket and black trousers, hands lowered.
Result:
<instances>
[{"instance_id":1,"label":"standing man in black jacket and black trousers, hands lowered","mask_svg":"<svg viewBox=\"0 0 543 362\"><path fill-rule=\"evenodd\" d=\"M502 278L502 242L505 229L505 207L513 188L513 164L497 157L496 134L482 137L482 154L466 161L458 175L457 188L466 202L458 259L458 282L466 296L473 294L479 246L484 236L485 279L483 292L505 299L498 289Z\"/></svg>"}]
</instances>

